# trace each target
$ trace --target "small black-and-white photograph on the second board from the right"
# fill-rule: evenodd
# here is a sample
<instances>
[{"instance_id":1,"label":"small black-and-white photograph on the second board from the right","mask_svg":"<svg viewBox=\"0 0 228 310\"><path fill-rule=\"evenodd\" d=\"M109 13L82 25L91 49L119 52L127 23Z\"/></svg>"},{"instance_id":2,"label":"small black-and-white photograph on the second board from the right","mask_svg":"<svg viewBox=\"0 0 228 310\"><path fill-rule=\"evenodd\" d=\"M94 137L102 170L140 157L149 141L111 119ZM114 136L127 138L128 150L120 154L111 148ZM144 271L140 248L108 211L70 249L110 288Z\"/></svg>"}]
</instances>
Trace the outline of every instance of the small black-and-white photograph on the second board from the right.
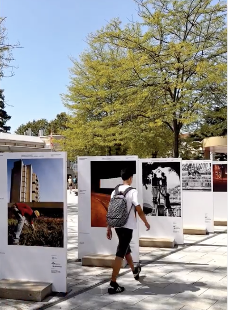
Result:
<instances>
[{"instance_id":1,"label":"small black-and-white photograph on the second board from the right","mask_svg":"<svg viewBox=\"0 0 228 310\"><path fill-rule=\"evenodd\" d=\"M182 164L182 190L211 191L211 164L209 162Z\"/></svg>"}]
</instances>

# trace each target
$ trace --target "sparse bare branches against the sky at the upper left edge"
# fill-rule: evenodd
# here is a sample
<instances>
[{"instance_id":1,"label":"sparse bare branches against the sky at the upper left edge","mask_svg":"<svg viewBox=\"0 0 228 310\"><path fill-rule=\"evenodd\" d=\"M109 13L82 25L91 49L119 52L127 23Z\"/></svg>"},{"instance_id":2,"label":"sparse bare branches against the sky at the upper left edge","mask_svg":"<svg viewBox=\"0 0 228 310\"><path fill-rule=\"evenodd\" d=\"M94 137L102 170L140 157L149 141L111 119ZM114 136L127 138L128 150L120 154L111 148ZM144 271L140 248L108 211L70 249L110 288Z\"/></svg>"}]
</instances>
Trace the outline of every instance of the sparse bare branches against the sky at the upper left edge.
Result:
<instances>
[{"instance_id":1,"label":"sparse bare branches against the sky at the upper left edge","mask_svg":"<svg viewBox=\"0 0 228 310\"><path fill-rule=\"evenodd\" d=\"M7 29L5 27L6 17L0 17L0 79L2 77L11 77L14 75L13 69L16 67L12 65L15 60L12 55L12 50L20 48L20 43L9 44L7 38ZM10 69L10 73L5 75L4 70Z\"/></svg>"}]
</instances>

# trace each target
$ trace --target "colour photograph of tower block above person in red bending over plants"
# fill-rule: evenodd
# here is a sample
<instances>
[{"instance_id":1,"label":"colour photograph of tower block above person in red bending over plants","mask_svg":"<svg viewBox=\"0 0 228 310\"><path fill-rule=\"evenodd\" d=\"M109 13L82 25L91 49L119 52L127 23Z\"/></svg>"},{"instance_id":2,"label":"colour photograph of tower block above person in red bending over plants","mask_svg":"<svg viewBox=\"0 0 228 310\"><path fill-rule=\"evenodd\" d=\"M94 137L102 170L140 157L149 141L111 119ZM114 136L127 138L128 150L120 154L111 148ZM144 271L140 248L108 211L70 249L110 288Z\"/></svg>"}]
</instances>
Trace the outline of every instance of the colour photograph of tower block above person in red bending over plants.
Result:
<instances>
[{"instance_id":1,"label":"colour photograph of tower block above person in red bending over plants","mask_svg":"<svg viewBox=\"0 0 228 310\"><path fill-rule=\"evenodd\" d=\"M7 160L8 245L64 247L63 159Z\"/></svg>"}]
</instances>

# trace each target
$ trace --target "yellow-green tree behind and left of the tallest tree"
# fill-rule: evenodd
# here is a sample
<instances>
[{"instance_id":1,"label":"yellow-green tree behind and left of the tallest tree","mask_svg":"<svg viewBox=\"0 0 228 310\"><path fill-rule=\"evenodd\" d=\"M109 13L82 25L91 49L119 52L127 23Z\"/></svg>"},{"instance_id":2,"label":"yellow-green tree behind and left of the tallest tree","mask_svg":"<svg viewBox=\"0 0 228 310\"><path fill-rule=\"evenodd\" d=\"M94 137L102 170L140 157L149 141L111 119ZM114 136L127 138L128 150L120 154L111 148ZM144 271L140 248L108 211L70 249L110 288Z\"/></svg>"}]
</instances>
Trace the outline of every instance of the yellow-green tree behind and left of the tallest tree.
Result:
<instances>
[{"instance_id":1,"label":"yellow-green tree behind and left of the tallest tree","mask_svg":"<svg viewBox=\"0 0 228 310\"><path fill-rule=\"evenodd\" d=\"M88 49L80 60L72 59L71 83L68 93L62 95L65 106L72 116L64 132L64 149L68 157L75 155L127 155L140 157L162 156L170 151L170 136L167 128L156 126L149 119L129 119L110 126L116 119L118 105L128 100L129 92L119 96L110 75L103 70L121 64L126 55L122 48L111 47L87 40ZM102 64L102 66L100 65ZM124 118L127 111L121 111L118 118ZM154 128L156 127L156 129ZM168 142L169 141L169 142Z\"/></svg>"}]
</instances>

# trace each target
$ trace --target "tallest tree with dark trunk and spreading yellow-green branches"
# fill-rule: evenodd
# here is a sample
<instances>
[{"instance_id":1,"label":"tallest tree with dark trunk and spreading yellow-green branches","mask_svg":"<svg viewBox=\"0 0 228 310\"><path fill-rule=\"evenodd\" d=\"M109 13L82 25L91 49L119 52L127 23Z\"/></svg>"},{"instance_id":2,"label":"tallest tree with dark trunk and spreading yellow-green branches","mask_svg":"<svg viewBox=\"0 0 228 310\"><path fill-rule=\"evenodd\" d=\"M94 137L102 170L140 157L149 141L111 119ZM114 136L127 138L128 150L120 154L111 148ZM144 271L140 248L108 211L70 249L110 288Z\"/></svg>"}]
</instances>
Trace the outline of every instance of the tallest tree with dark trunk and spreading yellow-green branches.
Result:
<instances>
[{"instance_id":1,"label":"tallest tree with dark trunk and spreading yellow-green branches","mask_svg":"<svg viewBox=\"0 0 228 310\"><path fill-rule=\"evenodd\" d=\"M178 157L181 130L221 107L226 98L226 3L135 2L139 22L122 28L114 19L89 38L91 46L99 43L125 53L112 62L96 60L94 70L99 62L100 74L109 78L116 95L106 124L119 126L138 118L165 124ZM102 110L106 108L104 104Z\"/></svg>"}]
</instances>

